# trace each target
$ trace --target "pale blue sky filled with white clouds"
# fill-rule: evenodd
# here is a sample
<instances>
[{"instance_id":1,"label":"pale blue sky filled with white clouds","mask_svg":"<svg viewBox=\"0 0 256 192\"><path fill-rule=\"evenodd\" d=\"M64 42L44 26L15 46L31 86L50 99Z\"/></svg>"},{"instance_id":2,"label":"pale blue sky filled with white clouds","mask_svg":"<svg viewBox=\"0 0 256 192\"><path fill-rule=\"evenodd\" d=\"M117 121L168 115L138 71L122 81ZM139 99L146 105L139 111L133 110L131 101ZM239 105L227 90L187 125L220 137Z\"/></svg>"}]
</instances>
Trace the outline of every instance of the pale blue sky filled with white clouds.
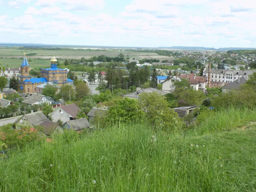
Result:
<instances>
[{"instance_id":1,"label":"pale blue sky filled with white clouds","mask_svg":"<svg viewBox=\"0 0 256 192\"><path fill-rule=\"evenodd\" d=\"M0 43L256 47L255 0L0 0Z\"/></svg>"}]
</instances>

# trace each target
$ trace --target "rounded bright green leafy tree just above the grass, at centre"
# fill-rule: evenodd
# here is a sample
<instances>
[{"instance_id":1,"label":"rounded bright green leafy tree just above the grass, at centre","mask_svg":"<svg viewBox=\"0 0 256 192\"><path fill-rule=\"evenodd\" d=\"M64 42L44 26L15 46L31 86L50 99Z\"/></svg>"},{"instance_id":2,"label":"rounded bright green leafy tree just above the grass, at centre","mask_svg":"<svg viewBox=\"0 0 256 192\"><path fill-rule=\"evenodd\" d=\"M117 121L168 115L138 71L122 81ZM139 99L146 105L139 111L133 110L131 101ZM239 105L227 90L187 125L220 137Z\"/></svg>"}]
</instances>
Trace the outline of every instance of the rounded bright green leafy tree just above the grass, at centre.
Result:
<instances>
[{"instance_id":1,"label":"rounded bright green leafy tree just above the grass, at centre","mask_svg":"<svg viewBox=\"0 0 256 192\"><path fill-rule=\"evenodd\" d=\"M139 121L143 115L143 111L139 108L137 99L114 99L107 111L107 119L109 122L133 122Z\"/></svg>"}]
</instances>

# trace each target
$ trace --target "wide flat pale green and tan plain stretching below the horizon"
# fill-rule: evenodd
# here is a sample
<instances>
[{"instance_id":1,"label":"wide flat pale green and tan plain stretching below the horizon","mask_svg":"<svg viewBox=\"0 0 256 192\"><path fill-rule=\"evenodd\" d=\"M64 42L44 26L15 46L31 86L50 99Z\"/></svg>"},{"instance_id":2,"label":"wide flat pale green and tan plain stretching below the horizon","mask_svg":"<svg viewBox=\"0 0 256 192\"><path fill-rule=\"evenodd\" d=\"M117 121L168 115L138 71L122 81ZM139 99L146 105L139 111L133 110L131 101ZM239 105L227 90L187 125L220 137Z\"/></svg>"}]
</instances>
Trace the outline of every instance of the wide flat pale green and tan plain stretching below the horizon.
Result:
<instances>
[{"instance_id":1,"label":"wide flat pale green and tan plain stretching below the horizon","mask_svg":"<svg viewBox=\"0 0 256 192\"><path fill-rule=\"evenodd\" d=\"M157 53L154 52L129 52L129 51L96 51L96 50L21 50L21 49L0 49L0 57L3 58L23 58L23 53L26 51L27 54L29 53L37 53L37 55L34 56L27 56L27 58L41 58L41 59L50 59L52 58L52 55L55 55L56 58L73 58L73 59L79 59L81 57L84 58L91 58L93 56L98 55L106 55L109 57L115 57L119 55L120 53L124 54L125 57L129 55L129 58L135 58L135 59L143 59L143 58L156 58L159 60L173 60L174 58L168 57L168 56L161 56L157 55Z\"/></svg>"}]
</instances>

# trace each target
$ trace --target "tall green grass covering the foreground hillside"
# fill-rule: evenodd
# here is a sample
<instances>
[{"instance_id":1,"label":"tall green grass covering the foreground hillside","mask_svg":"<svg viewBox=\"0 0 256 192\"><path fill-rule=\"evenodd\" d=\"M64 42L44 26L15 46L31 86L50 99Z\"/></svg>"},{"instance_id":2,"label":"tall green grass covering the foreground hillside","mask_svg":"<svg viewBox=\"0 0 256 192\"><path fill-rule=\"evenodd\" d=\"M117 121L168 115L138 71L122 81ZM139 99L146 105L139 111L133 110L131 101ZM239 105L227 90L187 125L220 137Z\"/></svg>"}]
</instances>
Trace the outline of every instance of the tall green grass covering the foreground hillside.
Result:
<instances>
[{"instance_id":1,"label":"tall green grass covering the foreground hillside","mask_svg":"<svg viewBox=\"0 0 256 192\"><path fill-rule=\"evenodd\" d=\"M201 135L154 133L146 124L67 131L0 161L0 191L256 191L256 126L239 122Z\"/></svg>"}]
</instances>

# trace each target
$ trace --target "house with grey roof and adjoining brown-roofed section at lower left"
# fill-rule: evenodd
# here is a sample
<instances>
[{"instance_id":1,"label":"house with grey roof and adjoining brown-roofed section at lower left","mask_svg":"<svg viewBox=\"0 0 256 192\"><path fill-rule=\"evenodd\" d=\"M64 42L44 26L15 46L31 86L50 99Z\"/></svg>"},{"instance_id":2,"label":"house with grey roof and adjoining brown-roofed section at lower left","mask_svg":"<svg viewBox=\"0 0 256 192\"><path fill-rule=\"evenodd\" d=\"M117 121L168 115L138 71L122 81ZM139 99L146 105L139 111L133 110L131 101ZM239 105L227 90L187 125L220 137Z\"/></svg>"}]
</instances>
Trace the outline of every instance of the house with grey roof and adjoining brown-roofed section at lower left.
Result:
<instances>
[{"instance_id":1,"label":"house with grey roof and adjoining brown-roofed section at lower left","mask_svg":"<svg viewBox=\"0 0 256 192\"><path fill-rule=\"evenodd\" d=\"M22 117L18 118L16 121L16 128L19 129L20 125L29 125L29 126L40 126L42 132L46 135L52 134L58 127L58 123L54 123L47 119L42 111L32 112Z\"/></svg>"}]
</instances>

